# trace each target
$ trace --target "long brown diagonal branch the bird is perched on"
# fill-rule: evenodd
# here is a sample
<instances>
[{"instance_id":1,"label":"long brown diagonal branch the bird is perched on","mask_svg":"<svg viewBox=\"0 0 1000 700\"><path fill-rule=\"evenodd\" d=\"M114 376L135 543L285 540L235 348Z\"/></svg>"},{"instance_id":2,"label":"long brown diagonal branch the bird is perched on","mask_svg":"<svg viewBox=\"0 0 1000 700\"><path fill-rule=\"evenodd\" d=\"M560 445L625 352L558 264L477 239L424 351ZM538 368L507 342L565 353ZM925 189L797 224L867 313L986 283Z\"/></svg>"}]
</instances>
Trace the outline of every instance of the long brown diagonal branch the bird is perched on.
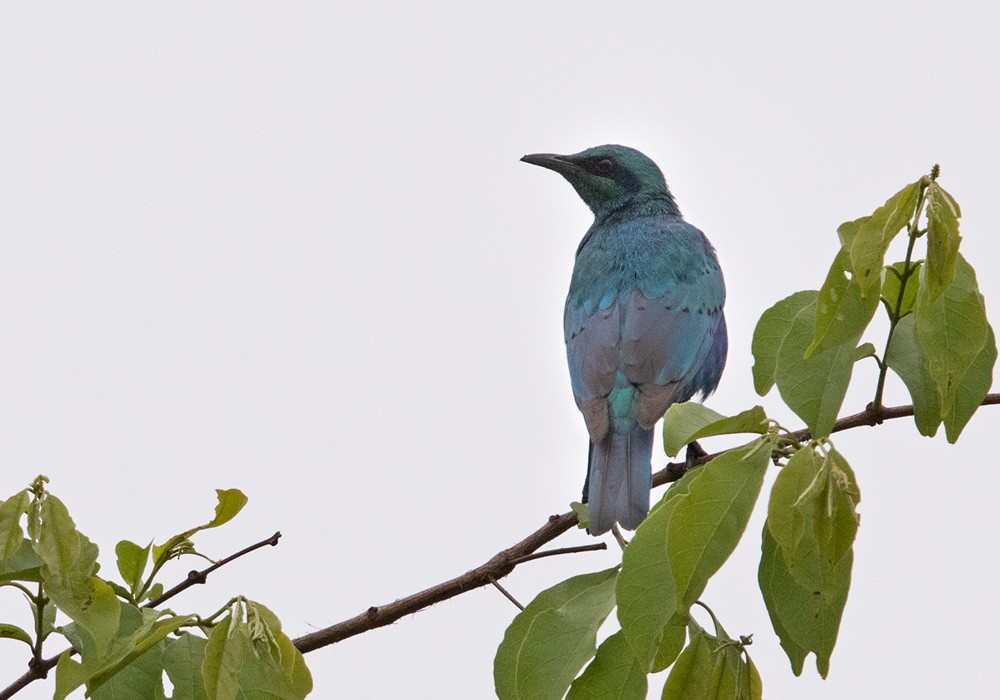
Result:
<instances>
[{"instance_id":1,"label":"long brown diagonal branch the bird is perched on","mask_svg":"<svg viewBox=\"0 0 1000 700\"><path fill-rule=\"evenodd\" d=\"M983 399L982 406L1000 404L1000 394L988 394ZM893 418L904 418L913 415L913 406L893 406L890 408L875 408L868 406L864 411L855 413L852 416L841 418L834 426L835 433L851 428L858 428L863 425L879 425ZM799 440L809 438L809 431L806 429L793 433ZM689 462L670 462L660 471L653 474L653 486L662 486L673 481L677 481L689 469L694 469L702 464L710 462L718 457L722 452L696 457ZM551 542L559 535L571 529L577 524L576 513L570 511L562 515L549 516L549 521L533 533L525 537L517 544L508 547L502 552L495 554L488 562L468 571L461 576L457 576L450 581L431 586L419 593L414 593L405 598L387 605L373 605L360 615L356 615L349 620L338 622L335 625L326 627L316 632L304 635L293 640L295 647L303 654L315 651L329 644L335 644L348 637L367 632L376 627L391 625L396 620L412 615L423 608L440 603L443 600L454 598L462 593L467 593L482 586L493 585L497 579L507 576L514 570L518 563L528 561L531 558L542 556L534 555L534 552L541 546ZM567 548L576 550L577 548ZM555 554L560 550L555 550ZM0 698L2 700L2 698Z\"/></svg>"}]
</instances>

